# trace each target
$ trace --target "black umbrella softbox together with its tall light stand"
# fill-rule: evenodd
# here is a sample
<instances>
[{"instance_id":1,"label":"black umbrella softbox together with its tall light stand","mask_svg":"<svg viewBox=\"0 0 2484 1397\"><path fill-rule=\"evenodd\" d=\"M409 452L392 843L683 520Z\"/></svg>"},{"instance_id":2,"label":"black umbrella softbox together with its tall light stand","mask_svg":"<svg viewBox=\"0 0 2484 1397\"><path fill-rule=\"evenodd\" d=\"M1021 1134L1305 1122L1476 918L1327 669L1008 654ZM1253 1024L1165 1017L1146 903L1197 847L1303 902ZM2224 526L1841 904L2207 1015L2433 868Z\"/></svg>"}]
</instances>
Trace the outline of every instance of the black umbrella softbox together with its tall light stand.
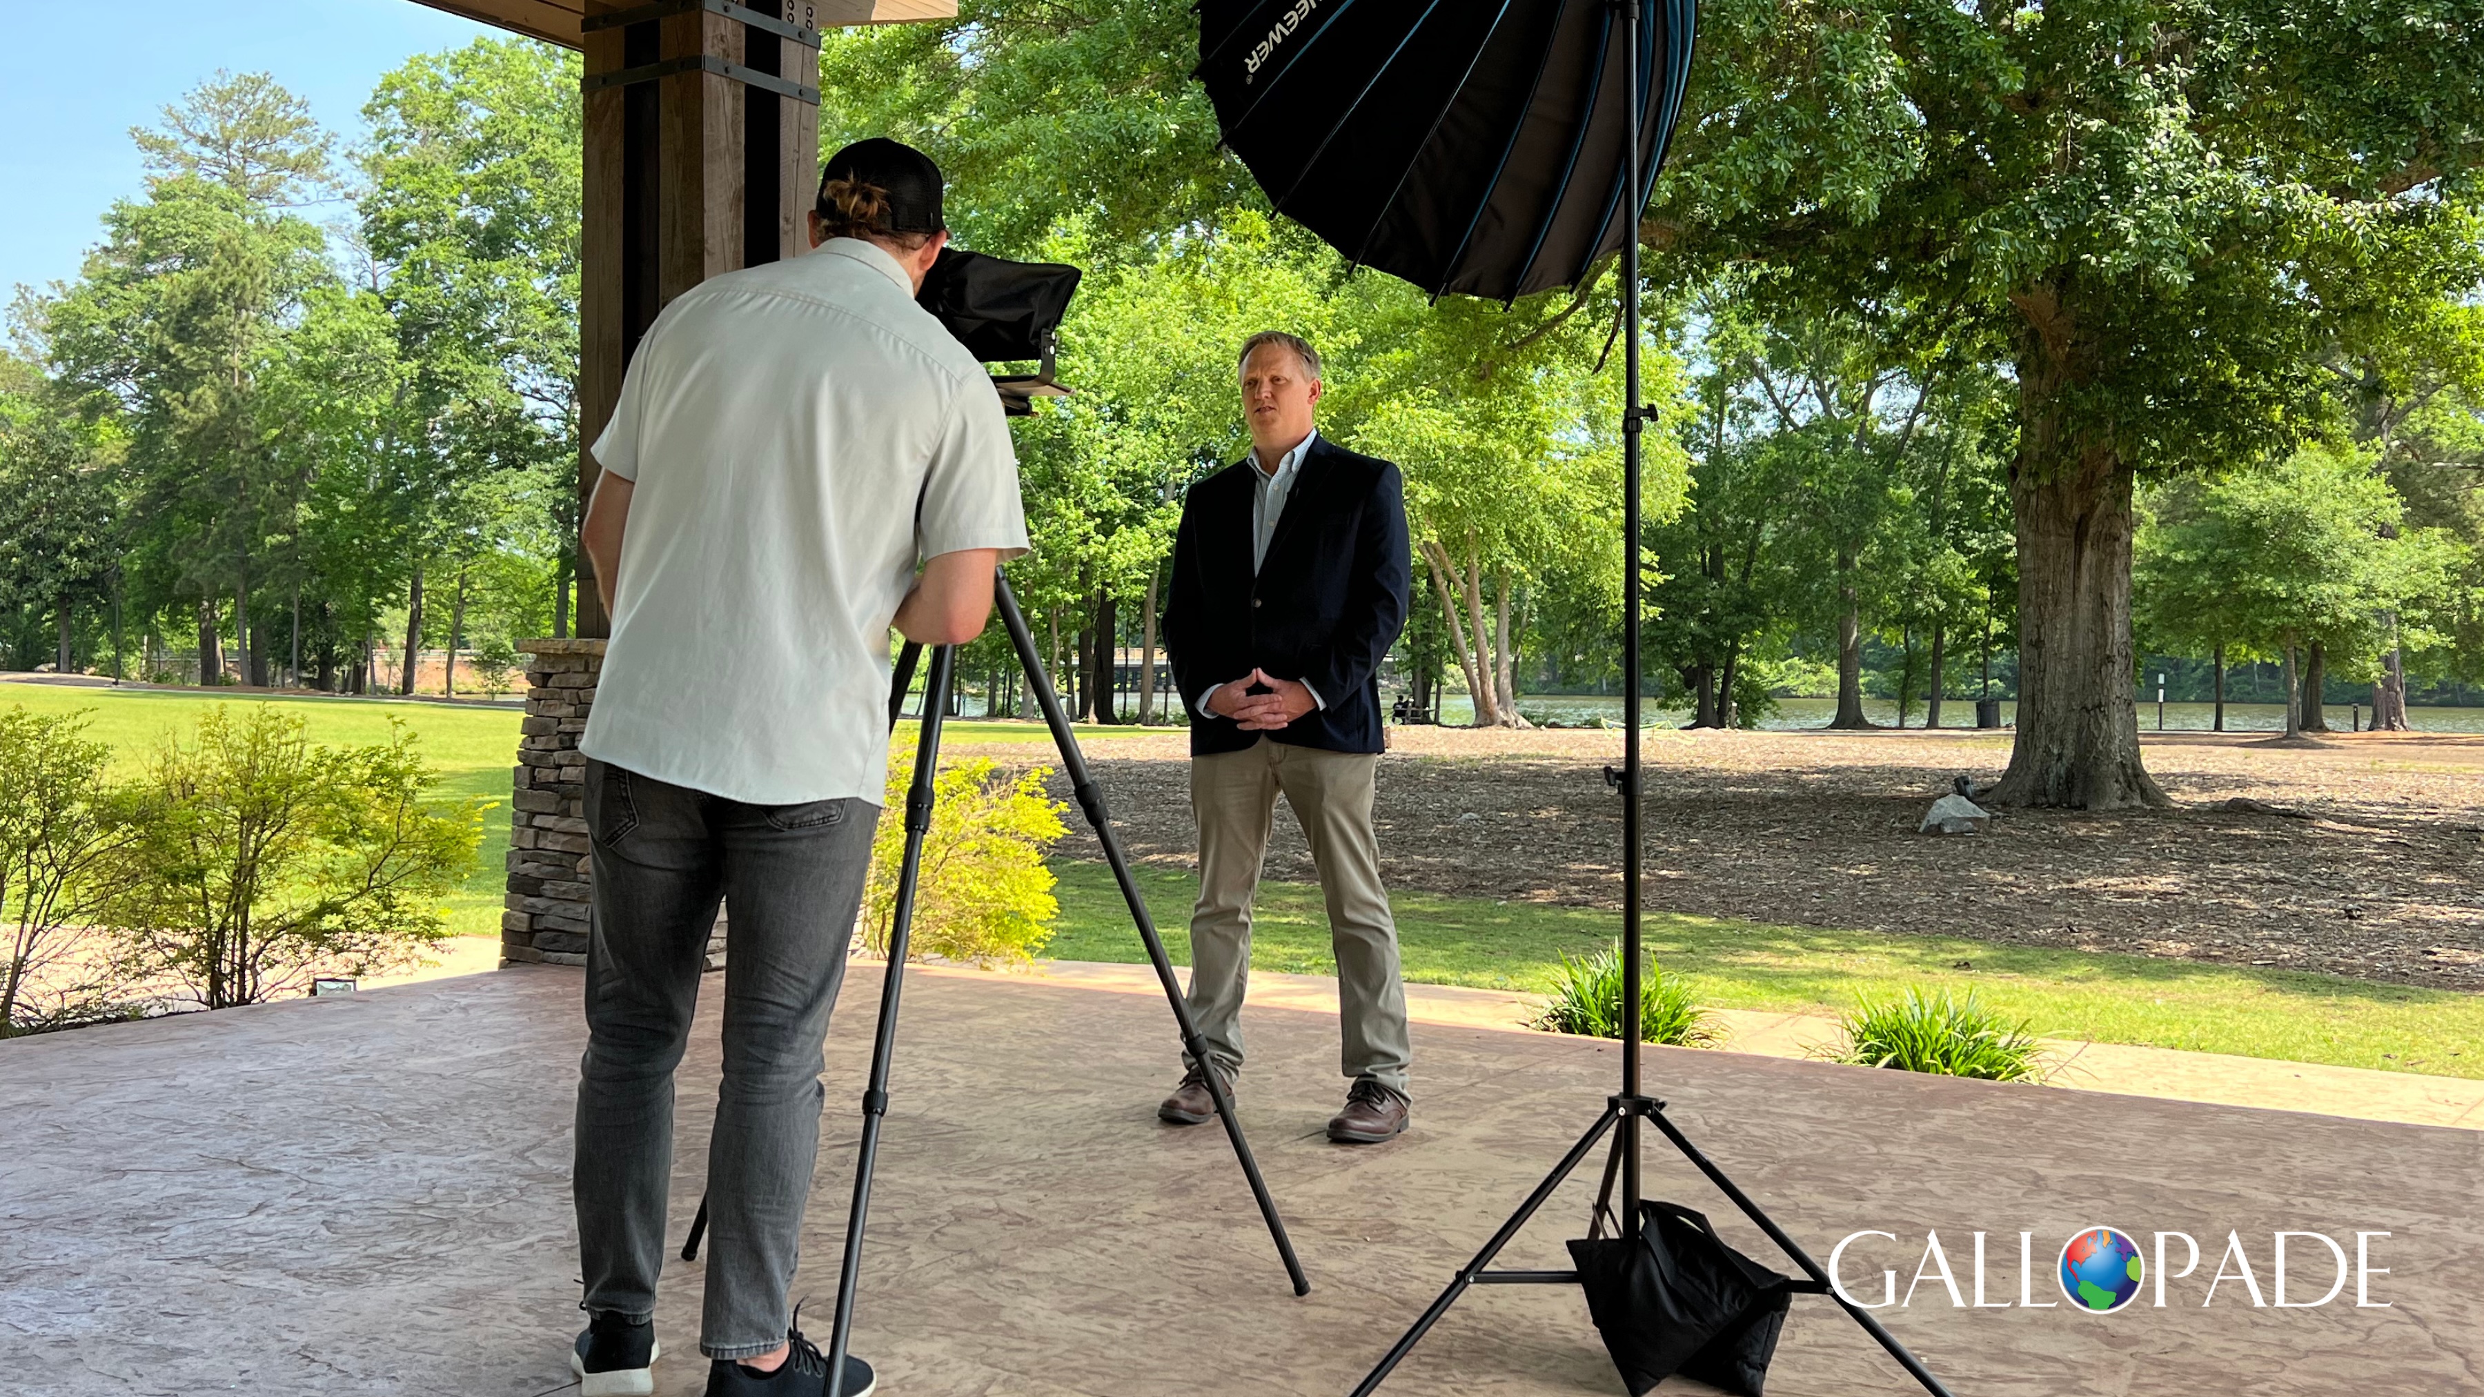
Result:
<instances>
[{"instance_id":1,"label":"black umbrella softbox together with its tall light stand","mask_svg":"<svg viewBox=\"0 0 2484 1397\"><path fill-rule=\"evenodd\" d=\"M1577 286L1600 259L1620 251L1625 684L1622 768L1607 776L1622 793L1622 1091L1354 1397L1369 1397L1468 1285L1592 1280L1577 1270L1490 1270L1490 1263L1607 1131L1615 1131L1612 1161L1622 1176L1622 1243L1647 1253L1639 1245L1649 1225L1639 1198L1642 1124L1662 1131L1801 1263L1811 1280L1796 1283L1798 1290L1833 1295L1908 1375L1947 1397L1947 1387L1873 1315L1833 1293L1828 1273L1639 1086L1639 435L1652 413L1639 405L1637 229L1682 112L1697 0L1200 0L1197 12L1197 77L1215 102L1225 147L1249 167L1279 214L1356 266L1389 271L1433 296L1515 301ZM1615 1298L1627 1288L1590 1290ZM1652 1300L1597 1312L1607 1335L1627 1340L1612 1345L1617 1362L1642 1337L1664 1332L1662 1310ZM1759 1372L1751 1372L1749 1387L1756 1385Z\"/></svg>"}]
</instances>

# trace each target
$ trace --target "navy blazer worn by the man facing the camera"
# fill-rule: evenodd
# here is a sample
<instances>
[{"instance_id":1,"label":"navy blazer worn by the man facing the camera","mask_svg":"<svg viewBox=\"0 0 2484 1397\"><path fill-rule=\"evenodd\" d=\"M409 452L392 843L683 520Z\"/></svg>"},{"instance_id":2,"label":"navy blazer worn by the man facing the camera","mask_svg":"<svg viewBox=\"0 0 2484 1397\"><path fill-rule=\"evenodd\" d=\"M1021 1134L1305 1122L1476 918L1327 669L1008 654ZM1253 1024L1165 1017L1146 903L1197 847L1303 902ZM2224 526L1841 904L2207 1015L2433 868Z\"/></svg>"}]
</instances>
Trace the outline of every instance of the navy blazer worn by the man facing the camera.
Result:
<instances>
[{"instance_id":1,"label":"navy blazer worn by the man facing the camera","mask_svg":"<svg viewBox=\"0 0 2484 1397\"><path fill-rule=\"evenodd\" d=\"M1190 487L1172 539L1165 654L1190 711L1190 753L1242 751L1262 736L1321 751L1381 751L1379 666L1406 626L1406 482L1398 467L1326 435L1287 492L1267 562L1252 574L1252 472L1244 457ZM1299 679L1326 708L1272 733L1200 716L1200 696L1252 669Z\"/></svg>"}]
</instances>

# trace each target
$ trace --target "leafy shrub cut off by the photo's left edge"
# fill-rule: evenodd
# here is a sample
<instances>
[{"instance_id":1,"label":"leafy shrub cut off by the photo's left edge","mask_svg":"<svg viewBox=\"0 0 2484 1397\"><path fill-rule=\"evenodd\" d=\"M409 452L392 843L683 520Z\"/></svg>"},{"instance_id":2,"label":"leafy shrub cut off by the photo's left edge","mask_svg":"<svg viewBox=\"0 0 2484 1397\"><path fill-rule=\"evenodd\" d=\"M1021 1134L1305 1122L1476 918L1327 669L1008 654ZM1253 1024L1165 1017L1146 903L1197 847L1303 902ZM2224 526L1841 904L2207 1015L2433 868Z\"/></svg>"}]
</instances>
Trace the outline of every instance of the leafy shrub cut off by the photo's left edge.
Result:
<instances>
[{"instance_id":1,"label":"leafy shrub cut off by the photo's left edge","mask_svg":"<svg viewBox=\"0 0 2484 1397\"><path fill-rule=\"evenodd\" d=\"M87 935L109 887L99 870L132 830L104 781L112 748L84 736L92 713L0 711L0 1037L134 1012L134 977Z\"/></svg>"}]
</instances>

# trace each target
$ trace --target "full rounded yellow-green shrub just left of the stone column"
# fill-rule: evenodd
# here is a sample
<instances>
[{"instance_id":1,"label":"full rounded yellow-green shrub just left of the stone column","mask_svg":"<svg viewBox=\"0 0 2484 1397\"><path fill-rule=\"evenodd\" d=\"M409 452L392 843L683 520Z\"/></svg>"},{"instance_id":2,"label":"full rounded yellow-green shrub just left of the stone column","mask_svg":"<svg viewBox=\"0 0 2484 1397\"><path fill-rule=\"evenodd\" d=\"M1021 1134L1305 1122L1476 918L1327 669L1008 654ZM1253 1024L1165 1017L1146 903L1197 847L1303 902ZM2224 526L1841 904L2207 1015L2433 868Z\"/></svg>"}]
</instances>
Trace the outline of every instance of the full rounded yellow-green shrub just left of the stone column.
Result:
<instances>
[{"instance_id":1,"label":"full rounded yellow-green shrub just left of the stone column","mask_svg":"<svg viewBox=\"0 0 2484 1397\"><path fill-rule=\"evenodd\" d=\"M415 736L390 726L333 751L273 703L209 708L137 793L114 932L209 1009L410 964L447 935L440 900L474 865L484 805L435 808Z\"/></svg>"}]
</instances>

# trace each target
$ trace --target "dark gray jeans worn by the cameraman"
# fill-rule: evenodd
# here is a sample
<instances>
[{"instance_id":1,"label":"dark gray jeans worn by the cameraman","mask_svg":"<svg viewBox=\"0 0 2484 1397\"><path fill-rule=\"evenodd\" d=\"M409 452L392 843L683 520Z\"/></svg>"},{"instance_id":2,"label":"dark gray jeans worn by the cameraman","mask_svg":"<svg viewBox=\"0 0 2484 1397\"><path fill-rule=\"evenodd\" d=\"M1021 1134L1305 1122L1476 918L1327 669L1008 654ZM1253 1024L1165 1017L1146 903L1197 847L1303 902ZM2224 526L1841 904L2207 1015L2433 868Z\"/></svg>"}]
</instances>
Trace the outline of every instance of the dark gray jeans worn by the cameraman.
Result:
<instances>
[{"instance_id":1,"label":"dark gray jeans worn by the cameraman","mask_svg":"<svg viewBox=\"0 0 2484 1397\"><path fill-rule=\"evenodd\" d=\"M820 1044L872 863L867 800L745 805L586 763L594 937L579 1064L579 1253L586 1310L643 1320L663 1270L673 1066L691 1037L720 897L725 1079L708 1136L700 1352L785 1342L802 1206L820 1153Z\"/></svg>"}]
</instances>

